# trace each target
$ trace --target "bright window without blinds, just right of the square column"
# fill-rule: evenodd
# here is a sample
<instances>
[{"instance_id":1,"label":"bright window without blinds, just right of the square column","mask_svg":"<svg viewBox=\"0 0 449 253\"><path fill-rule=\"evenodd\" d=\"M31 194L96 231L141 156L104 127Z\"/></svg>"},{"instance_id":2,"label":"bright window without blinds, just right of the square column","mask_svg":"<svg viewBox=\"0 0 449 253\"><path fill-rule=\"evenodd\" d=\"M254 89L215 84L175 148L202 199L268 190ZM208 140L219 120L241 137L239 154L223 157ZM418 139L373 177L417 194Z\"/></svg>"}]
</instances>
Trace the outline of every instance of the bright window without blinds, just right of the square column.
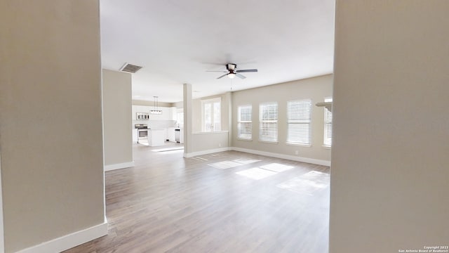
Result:
<instances>
[{"instance_id":1,"label":"bright window without blinds, just right of the square column","mask_svg":"<svg viewBox=\"0 0 449 253\"><path fill-rule=\"evenodd\" d=\"M203 131L221 131L221 98L201 101Z\"/></svg>"}]
</instances>

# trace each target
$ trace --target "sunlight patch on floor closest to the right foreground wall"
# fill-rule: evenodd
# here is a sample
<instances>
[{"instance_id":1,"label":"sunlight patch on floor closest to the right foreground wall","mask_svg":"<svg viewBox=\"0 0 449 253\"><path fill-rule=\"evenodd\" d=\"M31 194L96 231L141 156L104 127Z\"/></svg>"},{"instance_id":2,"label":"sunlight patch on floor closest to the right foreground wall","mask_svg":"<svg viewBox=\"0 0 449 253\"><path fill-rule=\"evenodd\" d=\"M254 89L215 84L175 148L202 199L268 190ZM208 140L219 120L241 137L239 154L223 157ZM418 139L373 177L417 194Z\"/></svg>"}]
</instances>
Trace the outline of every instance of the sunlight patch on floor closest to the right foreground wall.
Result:
<instances>
[{"instance_id":1,"label":"sunlight patch on floor closest to the right foreground wall","mask_svg":"<svg viewBox=\"0 0 449 253\"><path fill-rule=\"evenodd\" d=\"M313 195L317 190L323 190L329 186L330 175L319 171L310 171L302 176L297 176L283 183L279 183L277 187L302 193Z\"/></svg>"}]
</instances>

